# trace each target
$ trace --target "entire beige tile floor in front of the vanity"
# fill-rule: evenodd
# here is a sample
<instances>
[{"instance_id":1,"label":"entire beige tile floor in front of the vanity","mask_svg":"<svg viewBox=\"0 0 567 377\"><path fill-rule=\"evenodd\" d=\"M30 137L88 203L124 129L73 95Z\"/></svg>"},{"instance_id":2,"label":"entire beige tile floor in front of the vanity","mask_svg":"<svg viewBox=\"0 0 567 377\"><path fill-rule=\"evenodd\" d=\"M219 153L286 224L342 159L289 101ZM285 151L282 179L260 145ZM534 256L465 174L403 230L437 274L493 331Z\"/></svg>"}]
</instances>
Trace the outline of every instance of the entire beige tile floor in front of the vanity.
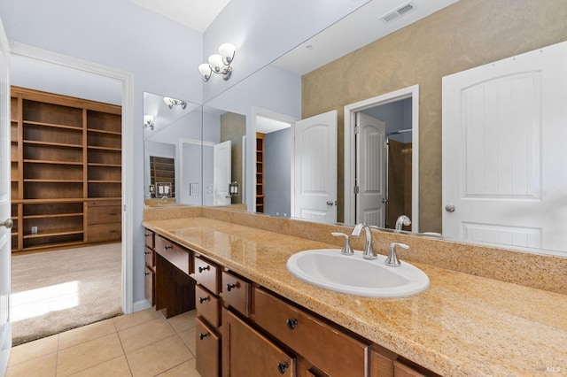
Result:
<instances>
[{"instance_id":1,"label":"entire beige tile floor in front of the vanity","mask_svg":"<svg viewBox=\"0 0 567 377\"><path fill-rule=\"evenodd\" d=\"M200 376L195 311L165 319L143 312L106 319L12 348L12 376Z\"/></svg>"}]
</instances>

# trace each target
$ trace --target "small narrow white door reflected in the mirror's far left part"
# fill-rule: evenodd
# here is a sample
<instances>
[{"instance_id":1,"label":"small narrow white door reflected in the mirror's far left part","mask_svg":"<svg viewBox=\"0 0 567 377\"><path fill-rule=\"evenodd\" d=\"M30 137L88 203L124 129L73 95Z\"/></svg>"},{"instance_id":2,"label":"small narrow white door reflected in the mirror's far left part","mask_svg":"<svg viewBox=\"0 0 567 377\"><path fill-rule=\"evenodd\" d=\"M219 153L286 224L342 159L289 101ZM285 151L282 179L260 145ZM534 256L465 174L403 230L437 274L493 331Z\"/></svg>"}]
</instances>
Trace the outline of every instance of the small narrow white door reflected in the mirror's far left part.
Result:
<instances>
[{"instance_id":1,"label":"small narrow white door reflected in the mirror's far left part","mask_svg":"<svg viewBox=\"0 0 567 377\"><path fill-rule=\"evenodd\" d=\"M232 203L229 194L230 176L232 173L231 150L232 143L230 141L214 144L214 205L229 205Z\"/></svg>"}]
</instances>

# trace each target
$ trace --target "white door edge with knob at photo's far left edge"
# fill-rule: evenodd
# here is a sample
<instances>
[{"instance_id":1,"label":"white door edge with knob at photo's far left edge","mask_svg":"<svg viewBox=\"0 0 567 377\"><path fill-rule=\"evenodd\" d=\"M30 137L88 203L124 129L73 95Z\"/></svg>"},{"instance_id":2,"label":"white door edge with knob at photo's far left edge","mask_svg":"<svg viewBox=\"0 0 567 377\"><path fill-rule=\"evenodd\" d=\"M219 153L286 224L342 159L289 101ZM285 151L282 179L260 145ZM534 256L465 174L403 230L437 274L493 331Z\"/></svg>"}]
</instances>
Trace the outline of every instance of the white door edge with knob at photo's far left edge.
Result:
<instances>
[{"instance_id":1,"label":"white door edge with knob at photo's far left edge","mask_svg":"<svg viewBox=\"0 0 567 377\"><path fill-rule=\"evenodd\" d=\"M0 20L0 375L4 375L12 347L10 322L11 257L11 155L10 155L10 50Z\"/></svg>"}]
</instances>

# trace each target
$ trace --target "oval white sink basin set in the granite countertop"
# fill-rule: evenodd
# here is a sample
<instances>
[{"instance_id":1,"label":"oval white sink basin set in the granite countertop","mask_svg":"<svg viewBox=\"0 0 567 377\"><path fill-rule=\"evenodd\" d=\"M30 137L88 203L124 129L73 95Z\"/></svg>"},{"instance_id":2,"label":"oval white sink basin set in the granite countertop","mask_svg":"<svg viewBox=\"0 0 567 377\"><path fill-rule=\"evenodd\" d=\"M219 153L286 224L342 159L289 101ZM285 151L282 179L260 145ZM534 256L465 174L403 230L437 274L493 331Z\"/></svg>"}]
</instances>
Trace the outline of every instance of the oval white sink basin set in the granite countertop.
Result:
<instances>
[{"instance_id":1,"label":"oval white sink basin set in the granite countertop","mask_svg":"<svg viewBox=\"0 0 567 377\"><path fill-rule=\"evenodd\" d=\"M429 288L429 278L415 265L401 261L399 267L384 265L385 256L362 258L338 249L300 251L288 260L288 271L302 281L341 293L370 297L407 297Z\"/></svg>"}]
</instances>

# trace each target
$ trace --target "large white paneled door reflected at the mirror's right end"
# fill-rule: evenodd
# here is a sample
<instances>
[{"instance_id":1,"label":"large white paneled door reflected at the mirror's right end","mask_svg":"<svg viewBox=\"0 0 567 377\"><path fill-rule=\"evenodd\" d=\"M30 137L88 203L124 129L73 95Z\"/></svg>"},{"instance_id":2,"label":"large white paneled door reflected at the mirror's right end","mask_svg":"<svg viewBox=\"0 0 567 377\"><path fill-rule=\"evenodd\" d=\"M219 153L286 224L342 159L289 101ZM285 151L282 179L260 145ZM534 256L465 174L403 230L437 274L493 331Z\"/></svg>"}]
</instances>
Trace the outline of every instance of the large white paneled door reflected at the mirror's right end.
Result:
<instances>
[{"instance_id":1,"label":"large white paneled door reflected at the mirror's right end","mask_svg":"<svg viewBox=\"0 0 567 377\"><path fill-rule=\"evenodd\" d=\"M567 42L443 78L443 235L567 250Z\"/></svg>"}]
</instances>

